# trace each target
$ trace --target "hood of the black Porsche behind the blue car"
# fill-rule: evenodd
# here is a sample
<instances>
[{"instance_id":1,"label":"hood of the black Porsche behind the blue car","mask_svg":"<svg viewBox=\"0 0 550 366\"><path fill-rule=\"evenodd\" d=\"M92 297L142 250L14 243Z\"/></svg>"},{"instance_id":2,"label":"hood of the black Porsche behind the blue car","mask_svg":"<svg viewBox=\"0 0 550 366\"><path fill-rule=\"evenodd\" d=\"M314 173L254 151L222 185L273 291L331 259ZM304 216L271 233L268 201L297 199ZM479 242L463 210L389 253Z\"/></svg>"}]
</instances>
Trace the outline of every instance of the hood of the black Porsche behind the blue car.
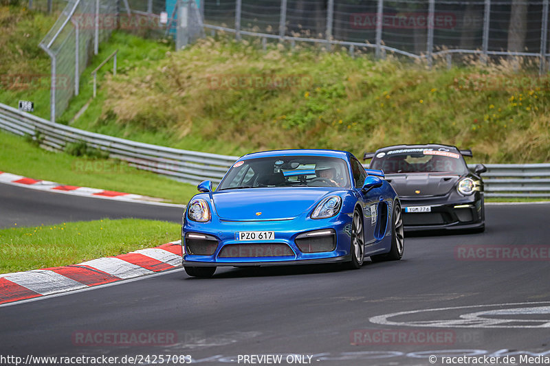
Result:
<instances>
[{"instance_id":1,"label":"hood of the black Porsche behind the blue car","mask_svg":"<svg viewBox=\"0 0 550 366\"><path fill-rule=\"evenodd\" d=\"M443 196L453 189L460 178L456 174L386 174L386 181L390 182L399 196Z\"/></svg>"}]
</instances>

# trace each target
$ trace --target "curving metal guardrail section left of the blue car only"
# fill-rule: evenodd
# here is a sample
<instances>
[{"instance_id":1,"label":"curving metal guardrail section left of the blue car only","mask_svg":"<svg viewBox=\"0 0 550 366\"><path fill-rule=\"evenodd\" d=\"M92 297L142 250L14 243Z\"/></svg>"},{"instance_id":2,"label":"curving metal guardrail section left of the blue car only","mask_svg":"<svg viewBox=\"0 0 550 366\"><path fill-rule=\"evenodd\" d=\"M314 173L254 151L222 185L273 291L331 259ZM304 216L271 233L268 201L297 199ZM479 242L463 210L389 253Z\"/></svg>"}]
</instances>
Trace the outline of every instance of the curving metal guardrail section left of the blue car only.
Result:
<instances>
[{"instance_id":1,"label":"curving metal guardrail section left of the blue car only","mask_svg":"<svg viewBox=\"0 0 550 366\"><path fill-rule=\"evenodd\" d=\"M238 157L167 148L137 141L91 133L55 124L30 113L0 103L0 129L17 135L39 137L41 146L64 150L69 143L85 143L127 161L137 169L169 176L178 181L197 184L206 179L219 183Z\"/></svg>"}]
</instances>

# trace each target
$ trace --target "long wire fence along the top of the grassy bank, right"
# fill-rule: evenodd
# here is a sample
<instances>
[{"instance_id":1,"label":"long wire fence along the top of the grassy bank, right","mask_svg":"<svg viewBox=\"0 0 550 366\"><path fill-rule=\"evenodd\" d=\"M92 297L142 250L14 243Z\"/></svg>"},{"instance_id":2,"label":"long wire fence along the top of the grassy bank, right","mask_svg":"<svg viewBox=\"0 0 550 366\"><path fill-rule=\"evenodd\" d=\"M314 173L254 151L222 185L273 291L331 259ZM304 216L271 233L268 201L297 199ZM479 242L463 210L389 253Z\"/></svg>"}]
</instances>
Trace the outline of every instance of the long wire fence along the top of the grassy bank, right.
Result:
<instances>
[{"instance_id":1,"label":"long wire fence along the top of the grassy bank, right","mask_svg":"<svg viewBox=\"0 0 550 366\"><path fill-rule=\"evenodd\" d=\"M538 58L547 72L548 0L206 0L205 27L423 59ZM457 56L453 56L457 55Z\"/></svg>"}]
</instances>

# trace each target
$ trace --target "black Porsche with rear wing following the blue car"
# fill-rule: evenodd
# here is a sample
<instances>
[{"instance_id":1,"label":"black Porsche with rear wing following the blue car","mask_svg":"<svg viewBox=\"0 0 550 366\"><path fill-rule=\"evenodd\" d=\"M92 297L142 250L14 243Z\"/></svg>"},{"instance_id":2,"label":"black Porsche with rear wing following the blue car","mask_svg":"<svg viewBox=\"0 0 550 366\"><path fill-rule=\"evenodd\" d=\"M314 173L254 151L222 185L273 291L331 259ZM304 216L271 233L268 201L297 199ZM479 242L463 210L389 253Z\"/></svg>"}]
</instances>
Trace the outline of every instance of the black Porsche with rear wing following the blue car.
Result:
<instances>
[{"instance_id":1,"label":"black Porsche with rear wing following the blue car","mask_svg":"<svg viewBox=\"0 0 550 366\"><path fill-rule=\"evenodd\" d=\"M399 194L404 229L485 229L483 181L487 171L469 170L463 156L471 150L439 144L397 145L367 152L369 168L383 170Z\"/></svg>"}]
</instances>

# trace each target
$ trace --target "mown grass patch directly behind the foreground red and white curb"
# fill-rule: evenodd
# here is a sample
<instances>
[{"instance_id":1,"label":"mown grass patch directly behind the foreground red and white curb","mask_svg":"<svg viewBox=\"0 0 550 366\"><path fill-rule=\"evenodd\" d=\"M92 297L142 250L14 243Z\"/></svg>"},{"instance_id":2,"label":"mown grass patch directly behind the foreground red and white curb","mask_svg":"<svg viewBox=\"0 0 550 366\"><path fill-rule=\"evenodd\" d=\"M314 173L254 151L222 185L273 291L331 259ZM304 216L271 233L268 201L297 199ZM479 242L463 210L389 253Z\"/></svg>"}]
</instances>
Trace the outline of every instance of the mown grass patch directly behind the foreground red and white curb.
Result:
<instances>
[{"instance_id":1,"label":"mown grass patch directly behind the foreground red and white curb","mask_svg":"<svg viewBox=\"0 0 550 366\"><path fill-rule=\"evenodd\" d=\"M154 220L96 220L0 230L0 273L78 264L178 237L179 225Z\"/></svg>"}]
</instances>

